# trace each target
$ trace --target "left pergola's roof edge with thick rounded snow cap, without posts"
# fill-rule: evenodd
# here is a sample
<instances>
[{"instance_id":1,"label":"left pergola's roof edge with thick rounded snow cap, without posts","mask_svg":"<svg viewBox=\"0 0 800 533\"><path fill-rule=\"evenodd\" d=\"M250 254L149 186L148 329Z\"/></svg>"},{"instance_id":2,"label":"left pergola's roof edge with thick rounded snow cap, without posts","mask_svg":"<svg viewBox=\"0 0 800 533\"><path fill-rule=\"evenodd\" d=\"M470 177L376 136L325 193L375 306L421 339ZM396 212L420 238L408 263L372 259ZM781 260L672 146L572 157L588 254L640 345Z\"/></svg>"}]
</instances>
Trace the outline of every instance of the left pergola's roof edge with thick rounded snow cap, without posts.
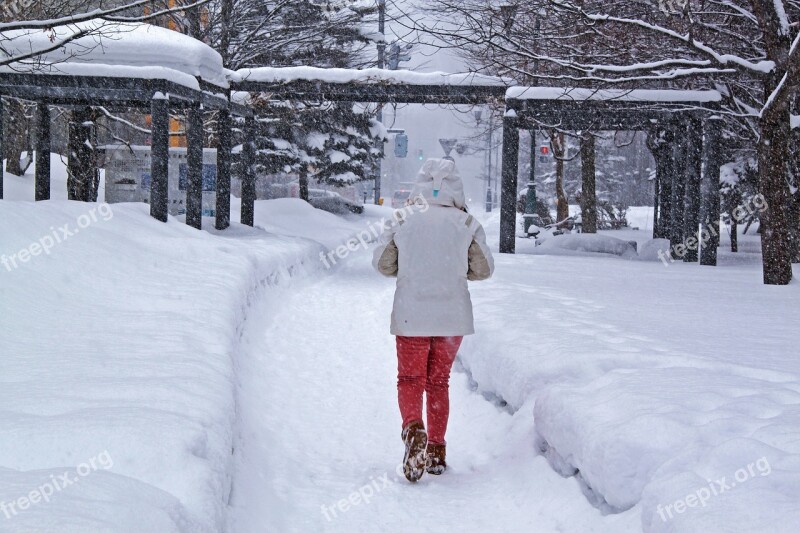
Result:
<instances>
[{"instance_id":1,"label":"left pergola's roof edge with thick rounded snow cap, without posts","mask_svg":"<svg viewBox=\"0 0 800 533\"><path fill-rule=\"evenodd\" d=\"M167 28L98 19L47 31L9 30L0 32L0 40L12 61L0 66L0 94L6 96L124 108L149 106L164 94L172 108L200 104L250 114L228 101L230 71L222 56ZM64 44L54 47L59 42Z\"/></svg>"}]
</instances>

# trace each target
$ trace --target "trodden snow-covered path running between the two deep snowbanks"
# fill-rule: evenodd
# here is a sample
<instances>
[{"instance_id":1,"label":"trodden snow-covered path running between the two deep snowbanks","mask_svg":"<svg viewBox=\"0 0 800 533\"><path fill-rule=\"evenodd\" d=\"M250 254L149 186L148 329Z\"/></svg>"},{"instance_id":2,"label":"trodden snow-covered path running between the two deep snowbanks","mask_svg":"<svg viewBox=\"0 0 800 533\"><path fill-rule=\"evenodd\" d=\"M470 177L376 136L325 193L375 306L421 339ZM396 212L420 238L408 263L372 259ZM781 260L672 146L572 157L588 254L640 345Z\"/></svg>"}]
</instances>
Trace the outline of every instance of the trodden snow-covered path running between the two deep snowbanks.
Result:
<instances>
[{"instance_id":1,"label":"trodden snow-covered path running between the two deep snowbanks","mask_svg":"<svg viewBox=\"0 0 800 533\"><path fill-rule=\"evenodd\" d=\"M271 290L248 318L239 361L230 531L640 531L602 516L511 415L451 383L450 469L410 485L388 333L393 280L354 254L320 280ZM368 501L367 501L368 500Z\"/></svg>"}]
</instances>

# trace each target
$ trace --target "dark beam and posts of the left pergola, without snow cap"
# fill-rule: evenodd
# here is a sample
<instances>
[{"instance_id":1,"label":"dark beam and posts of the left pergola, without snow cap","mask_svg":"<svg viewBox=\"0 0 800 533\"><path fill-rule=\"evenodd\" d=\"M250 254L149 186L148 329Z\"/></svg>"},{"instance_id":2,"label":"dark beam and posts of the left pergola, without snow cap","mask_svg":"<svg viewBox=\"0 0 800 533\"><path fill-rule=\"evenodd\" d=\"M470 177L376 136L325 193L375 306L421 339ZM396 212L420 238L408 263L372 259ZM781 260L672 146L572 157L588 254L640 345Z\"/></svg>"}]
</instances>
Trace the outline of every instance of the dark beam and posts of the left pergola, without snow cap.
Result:
<instances>
[{"instance_id":1,"label":"dark beam and posts of the left pergola, without snow cap","mask_svg":"<svg viewBox=\"0 0 800 533\"><path fill-rule=\"evenodd\" d=\"M188 111L186 223L200 228L202 221L203 112L218 112L216 227L230 224L231 115L252 116L252 111L230 102L226 89L202 80L180 83L174 76L159 78L107 77L51 72L0 72L0 95L36 102L35 200L50 199L50 106L102 105L111 110L149 108L152 116L150 214L166 222L169 210L168 161L170 111ZM178 80L180 78L178 77ZM2 121L2 100L0 100ZM89 126L84 128L89 138ZM2 131L2 122L0 122ZM0 135L0 153L2 135ZM0 184L2 168L0 168ZM0 185L2 199L2 185Z\"/></svg>"}]
</instances>

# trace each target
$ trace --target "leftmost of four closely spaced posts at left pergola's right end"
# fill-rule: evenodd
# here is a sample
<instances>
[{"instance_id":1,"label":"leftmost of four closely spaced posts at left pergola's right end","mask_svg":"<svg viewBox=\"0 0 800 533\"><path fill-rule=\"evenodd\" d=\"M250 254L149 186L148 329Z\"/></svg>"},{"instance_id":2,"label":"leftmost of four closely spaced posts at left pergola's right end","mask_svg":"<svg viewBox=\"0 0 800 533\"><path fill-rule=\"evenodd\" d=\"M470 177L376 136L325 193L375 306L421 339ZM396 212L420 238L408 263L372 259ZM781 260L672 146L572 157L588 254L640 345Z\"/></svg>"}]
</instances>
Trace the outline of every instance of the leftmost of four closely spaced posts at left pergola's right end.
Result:
<instances>
[{"instance_id":1,"label":"leftmost of four closely spaced posts at left pergola's right end","mask_svg":"<svg viewBox=\"0 0 800 533\"><path fill-rule=\"evenodd\" d=\"M169 214L169 100L158 93L150 108L150 216L166 222Z\"/></svg>"}]
</instances>

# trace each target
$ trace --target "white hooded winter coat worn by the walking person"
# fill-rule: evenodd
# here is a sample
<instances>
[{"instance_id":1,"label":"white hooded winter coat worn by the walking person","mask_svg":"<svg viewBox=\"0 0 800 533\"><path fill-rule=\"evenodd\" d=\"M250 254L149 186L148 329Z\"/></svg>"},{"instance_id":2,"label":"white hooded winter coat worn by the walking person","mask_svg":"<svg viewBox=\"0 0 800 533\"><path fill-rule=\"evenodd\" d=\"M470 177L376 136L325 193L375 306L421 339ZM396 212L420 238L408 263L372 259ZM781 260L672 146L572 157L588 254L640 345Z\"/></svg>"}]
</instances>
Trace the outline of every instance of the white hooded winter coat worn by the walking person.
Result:
<instances>
[{"instance_id":1,"label":"white hooded winter coat worn by the walking person","mask_svg":"<svg viewBox=\"0 0 800 533\"><path fill-rule=\"evenodd\" d=\"M468 280L487 279L492 254L480 223L462 210L455 163L429 159L420 170L399 223L382 236L373 265L397 276L391 333L449 337L475 332Z\"/></svg>"}]
</instances>

